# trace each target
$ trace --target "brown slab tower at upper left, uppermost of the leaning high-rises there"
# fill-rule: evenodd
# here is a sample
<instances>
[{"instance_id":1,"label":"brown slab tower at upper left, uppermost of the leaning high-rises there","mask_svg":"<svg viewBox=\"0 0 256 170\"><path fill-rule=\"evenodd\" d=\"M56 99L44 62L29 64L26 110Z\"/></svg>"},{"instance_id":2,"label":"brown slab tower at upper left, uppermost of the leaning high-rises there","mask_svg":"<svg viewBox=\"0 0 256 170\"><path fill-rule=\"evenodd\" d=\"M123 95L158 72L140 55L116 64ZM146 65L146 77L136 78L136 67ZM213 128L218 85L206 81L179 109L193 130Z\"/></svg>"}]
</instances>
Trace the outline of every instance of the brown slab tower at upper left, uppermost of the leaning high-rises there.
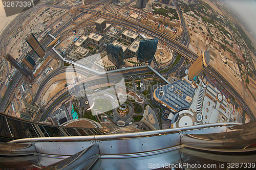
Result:
<instances>
[{"instance_id":1,"label":"brown slab tower at upper left, uppermost of the leaning high-rises there","mask_svg":"<svg viewBox=\"0 0 256 170\"><path fill-rule=\"evenodd\" d=\"M42 48L40 43L37 41L34 34L30 34L27 37L26 41L29 44L29 46L35 51L35 53L37 54L38 57L42 58L45 56L45 50L44 50L44 48Z\"/></svg>"}]
</instances>

